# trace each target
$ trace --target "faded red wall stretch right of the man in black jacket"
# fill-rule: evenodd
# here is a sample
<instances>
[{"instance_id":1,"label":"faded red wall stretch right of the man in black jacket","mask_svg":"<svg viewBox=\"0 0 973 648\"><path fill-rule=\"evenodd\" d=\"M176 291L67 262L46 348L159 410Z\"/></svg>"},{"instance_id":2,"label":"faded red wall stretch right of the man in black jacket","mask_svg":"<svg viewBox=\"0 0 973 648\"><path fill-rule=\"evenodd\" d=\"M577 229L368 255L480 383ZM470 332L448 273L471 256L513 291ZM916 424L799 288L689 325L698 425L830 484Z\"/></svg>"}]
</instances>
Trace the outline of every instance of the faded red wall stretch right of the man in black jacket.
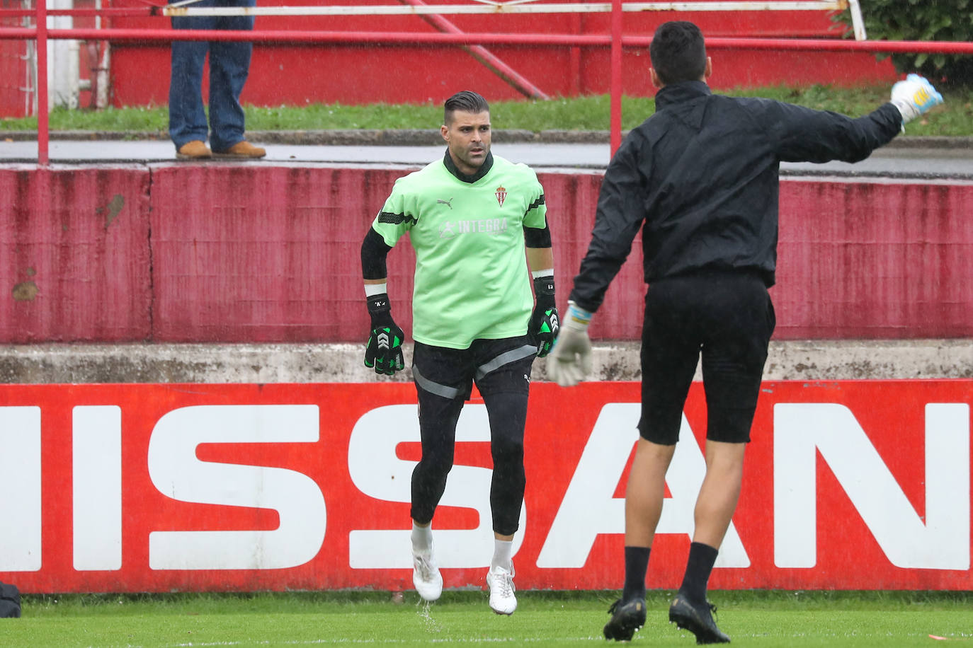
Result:
<instances>
[{"instance_id":1,"label":"faded red wall stretch right of the man in black jacket","mask_svg":"<svg viewBox=\"0 0 973 648\"><path fill-rule=\"evenodd\" d=\"M778 338L973 333L973 186L781 185Z\"/></svg>"}]
</instances>

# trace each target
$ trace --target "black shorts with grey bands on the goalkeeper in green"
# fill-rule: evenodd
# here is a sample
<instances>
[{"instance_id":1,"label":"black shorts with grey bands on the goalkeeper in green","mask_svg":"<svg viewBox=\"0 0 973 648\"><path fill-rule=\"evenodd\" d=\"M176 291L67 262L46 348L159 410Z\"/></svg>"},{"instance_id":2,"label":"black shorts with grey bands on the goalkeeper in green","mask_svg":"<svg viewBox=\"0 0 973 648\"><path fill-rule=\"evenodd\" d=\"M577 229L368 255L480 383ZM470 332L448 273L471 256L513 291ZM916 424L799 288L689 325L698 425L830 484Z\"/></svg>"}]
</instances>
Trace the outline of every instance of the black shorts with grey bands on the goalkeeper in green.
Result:
<instances>
[{"instance_id":1,"label":"black shorts with grey bands on the goalkeeper in green","mask_svg":"<svg viewBox=\"0 0 973 648\"><path fill-rule=\"evenodd\" d=\"M537 347L526 336L474 340L468 349L448 349L416 342L413 379L416 389L443 398L467 400L476 381L484 389L527 392Z\"/></svg>"}]
</instances>

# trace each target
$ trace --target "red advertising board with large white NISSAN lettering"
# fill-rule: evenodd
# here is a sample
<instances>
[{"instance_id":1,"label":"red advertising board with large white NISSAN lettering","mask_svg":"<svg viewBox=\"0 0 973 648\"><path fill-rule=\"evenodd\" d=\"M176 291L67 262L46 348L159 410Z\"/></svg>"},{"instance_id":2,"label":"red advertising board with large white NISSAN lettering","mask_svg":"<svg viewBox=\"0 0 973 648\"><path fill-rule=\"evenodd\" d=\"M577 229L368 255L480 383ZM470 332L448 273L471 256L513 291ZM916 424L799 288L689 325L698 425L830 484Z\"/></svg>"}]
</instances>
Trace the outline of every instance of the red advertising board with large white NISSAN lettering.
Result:
<instances>
[{"instance_id":1,"label":"red advertising board with large white NISSAN lettering","mask_svg":"<svg viewBox=\"0 0 973 648\"><path fill-rule=\"evenodd\" d=\"M622 585L637 383L531 392L520 589ZM973 381L765 383L716 589L970 589ZM703 477L685 410L649 568L682 576ZM409 384L0 386L0 580L24 592L411 588ZM474 392L433 528L483 586L489 430Z\"/></svg>"}]
</instances>

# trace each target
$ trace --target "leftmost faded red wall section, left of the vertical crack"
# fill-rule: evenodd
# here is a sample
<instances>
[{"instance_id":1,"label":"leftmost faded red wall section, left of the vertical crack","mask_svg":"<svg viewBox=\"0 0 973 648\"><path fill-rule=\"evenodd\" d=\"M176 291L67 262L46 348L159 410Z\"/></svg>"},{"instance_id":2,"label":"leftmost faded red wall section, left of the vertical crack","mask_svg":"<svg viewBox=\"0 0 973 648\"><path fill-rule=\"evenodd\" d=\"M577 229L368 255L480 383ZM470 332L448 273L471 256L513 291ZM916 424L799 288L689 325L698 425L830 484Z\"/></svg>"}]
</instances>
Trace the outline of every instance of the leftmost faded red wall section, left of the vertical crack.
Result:
<instances>
[{"instance_id":1,"label":"leftmost faded red wall section, left of the vertical crack","mask_svg":"<svg viewBox=\"0 0 973 648\"><path fill-rule=\"evenodd\" d=\"M152 337L149 172L0 168L0 340Z\"/></svg>"}]
</instances>

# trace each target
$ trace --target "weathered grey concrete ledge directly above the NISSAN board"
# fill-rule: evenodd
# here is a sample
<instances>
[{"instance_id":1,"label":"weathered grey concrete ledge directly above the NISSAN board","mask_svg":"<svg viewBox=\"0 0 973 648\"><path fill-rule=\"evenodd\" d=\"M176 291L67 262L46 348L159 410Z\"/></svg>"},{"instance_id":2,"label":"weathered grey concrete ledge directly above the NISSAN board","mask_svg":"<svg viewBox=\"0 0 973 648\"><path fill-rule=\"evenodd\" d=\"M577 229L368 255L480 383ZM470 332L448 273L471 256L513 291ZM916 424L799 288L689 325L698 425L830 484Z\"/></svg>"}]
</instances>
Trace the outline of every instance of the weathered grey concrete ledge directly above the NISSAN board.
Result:
<instances>
[{"instance_id":1,"label":"weathered grey concrete ledge directly above the NISSAN board","mask_svg":"<svg viewBox=\"0 0 973 648\"><path fill-rule=\"evenodd\" d=\"M0 346L0 384L411 382L407 369L377 376L363 343L34 344ZM547 377L546 361L531 377ZM637 342L595 343L591 380L637 381ZM771 342L765 380L973 378L973 340L792 340ZM697 373L696 380L702 375Z\"/></svg>"}]
</instances>

